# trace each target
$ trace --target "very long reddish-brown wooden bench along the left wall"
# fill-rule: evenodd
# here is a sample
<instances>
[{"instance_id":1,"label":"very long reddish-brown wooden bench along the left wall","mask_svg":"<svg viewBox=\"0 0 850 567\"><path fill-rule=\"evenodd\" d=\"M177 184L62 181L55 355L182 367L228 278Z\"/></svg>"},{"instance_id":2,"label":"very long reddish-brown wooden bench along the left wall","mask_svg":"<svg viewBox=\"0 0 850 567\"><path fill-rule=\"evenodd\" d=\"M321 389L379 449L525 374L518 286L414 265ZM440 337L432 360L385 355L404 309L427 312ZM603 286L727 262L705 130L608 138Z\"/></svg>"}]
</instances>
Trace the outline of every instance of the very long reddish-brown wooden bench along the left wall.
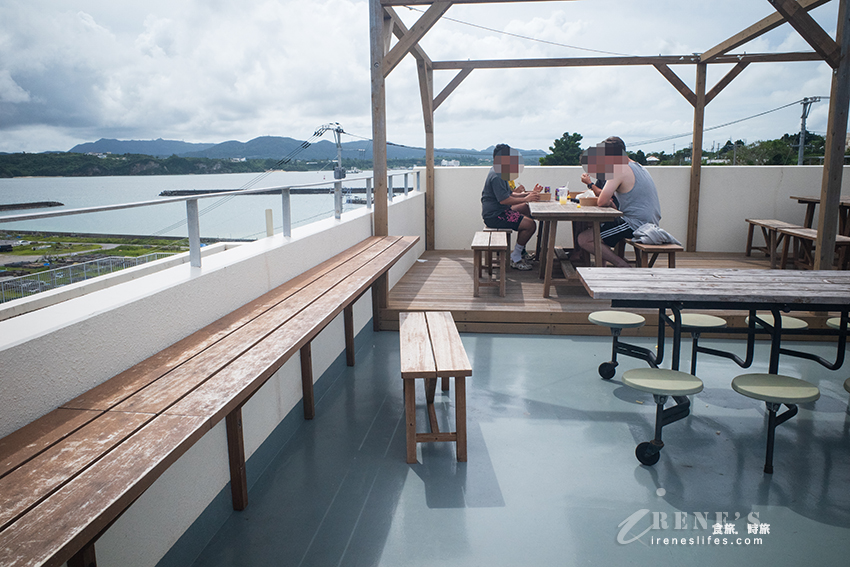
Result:
<instances>
[{"instance_id":1,"label":"very long reddish-brown wooden bench along the left wall","mask_svg":"<svg viewBox=\"0 0 850 567\"><path fill-rule=\"evenodd\" d=\"M371 288L377 313L417 240L368 238L0 439L0 565L94 565L98 537L222 419L244 509L243 404L300 352L312 418L311 341L343 312L353 365L353 304Z\"/></svg>"}]
</instances>

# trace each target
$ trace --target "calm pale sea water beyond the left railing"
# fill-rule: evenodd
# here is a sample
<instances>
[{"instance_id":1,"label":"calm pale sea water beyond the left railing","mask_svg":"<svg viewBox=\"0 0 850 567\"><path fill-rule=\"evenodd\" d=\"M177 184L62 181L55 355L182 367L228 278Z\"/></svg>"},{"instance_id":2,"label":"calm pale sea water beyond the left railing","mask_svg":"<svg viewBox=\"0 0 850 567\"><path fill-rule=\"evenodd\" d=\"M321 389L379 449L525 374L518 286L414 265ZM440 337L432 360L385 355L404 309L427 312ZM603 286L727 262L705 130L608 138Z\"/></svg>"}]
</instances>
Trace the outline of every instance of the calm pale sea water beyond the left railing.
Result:
<instances>
[{"instance_id":1,"label":"calm pale sea water beyond the left railing","mask_svg":"<svg viewBox=\"0 0 850 567\"><path fill-rule=\"evenodd\" d=\"M368 172L366 172L368 174ZM360 177L362 175L358 175ZM252 189L327 181L327 194L292 195L292 226L329 218L334 213L333 173L274 172L221 175L37 177L0 179L0 204L58 201L63 207L0 212L13 214L77 209L99 205L162 199L160 192L178 189ZM400 181L396 185L400 185ZM412 183L411 183L412 184ZM365 187L365 181L343 180L343 187ZM344 205L344 211L363 205ZM256 239L266 234L266 209L272 210L275 231L283 227L280 195L212 197L198 201L202 237ZM183 202L119 211L88 213L41 220L0 223L8 230L187 236Z\"/></svg>"}]
</instances>

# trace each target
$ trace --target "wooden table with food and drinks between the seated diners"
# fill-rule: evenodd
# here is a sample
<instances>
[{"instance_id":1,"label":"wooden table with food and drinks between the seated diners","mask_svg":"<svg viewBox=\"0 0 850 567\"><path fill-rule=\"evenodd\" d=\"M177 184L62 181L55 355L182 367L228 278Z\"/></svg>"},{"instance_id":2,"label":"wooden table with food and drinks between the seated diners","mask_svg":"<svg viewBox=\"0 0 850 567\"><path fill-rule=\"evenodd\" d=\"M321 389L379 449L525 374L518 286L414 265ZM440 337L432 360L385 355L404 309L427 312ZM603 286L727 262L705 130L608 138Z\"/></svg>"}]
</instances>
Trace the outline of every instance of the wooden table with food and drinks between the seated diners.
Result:
<instances>
[{"instance_id":1,"label":"wooden table with food and drinks between the seated diners","mask_svg":"<svg viewBox=\"0 0 850 567\"><path fill-rule=\"evenodd\" d=\"M555 259L555 235L558 221L580 221L593 226L593 254L597 266L602 262L602 236L600 224L623 216L621 211L611 207L581 207L572 201L562 205L557 201L537 201L528 204L531 216L543 223L541 235L545 246L541 247L540 277L543 279L543 297L549 297L552 286L552 269L550 262ZM566 273L564 277L569 277Z\"/></svg>"}]
</instances>

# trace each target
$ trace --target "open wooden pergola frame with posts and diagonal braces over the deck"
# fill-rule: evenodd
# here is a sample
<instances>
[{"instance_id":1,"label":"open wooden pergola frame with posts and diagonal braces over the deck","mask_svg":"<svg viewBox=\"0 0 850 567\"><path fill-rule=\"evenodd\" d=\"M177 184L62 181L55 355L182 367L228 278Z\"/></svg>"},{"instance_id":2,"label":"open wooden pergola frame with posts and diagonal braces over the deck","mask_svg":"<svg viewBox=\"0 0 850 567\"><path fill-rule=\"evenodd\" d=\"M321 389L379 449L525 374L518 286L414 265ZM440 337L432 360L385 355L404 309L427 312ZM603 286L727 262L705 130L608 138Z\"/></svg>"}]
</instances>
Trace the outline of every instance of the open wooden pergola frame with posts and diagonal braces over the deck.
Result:
<instances>
[{"instance_id":1,"label":"open wooden pergola frame with posts and diagonal braces over the deck","mask_svg":"<svg viewBox=\"0 0 850 567\"><path fill-rule=\"evenodd\" d=\"M387 234L387 132L385 81L392 70L407 55L416 59L419 90L425 125L426 197L425 226L426 248L434 248L434 111L475 69L508 69L535 67L587 67L652 65L694 107L693 150L691 156L691 181L688 202L687 250L696 250L697 219L699 217L700 169L705 106L711 102L750 63L788 61L824 61L832 67L832 88L829 101L829 118L826 137L821 207L818 219L817 256L815 269L830 269L835 254L835 237L838 232L838 203L844 164L844 147L847 136L848 107L850 107L850 27L848 27L848 2L838 0L837 38L834 40L809 15L809 11L832 0L766 0L775 12L735 34L726 41L699 55L657 57L568 57L551 59L495 59L432 61L419 41L439 21L453 4L488 4L496 2L540 2L552 0L369 0L372 73L372 139L375 174L375 234ZM565 1L565 0L559 0ZM395 6L427 5L428 8L412 27L408 28L395 12ZM811 52L798 53L743 53L731 54L747 42L790 23L812 47ZM397 38L392 43L392 36ZM707 89L708 65L734 63L735 66ZM672 67L696 66L696 84L688 87ZM434 96L435 70L455 70L454 78ZM378 198L381 195L384 198Z\"/></svg>"}]
</instances>

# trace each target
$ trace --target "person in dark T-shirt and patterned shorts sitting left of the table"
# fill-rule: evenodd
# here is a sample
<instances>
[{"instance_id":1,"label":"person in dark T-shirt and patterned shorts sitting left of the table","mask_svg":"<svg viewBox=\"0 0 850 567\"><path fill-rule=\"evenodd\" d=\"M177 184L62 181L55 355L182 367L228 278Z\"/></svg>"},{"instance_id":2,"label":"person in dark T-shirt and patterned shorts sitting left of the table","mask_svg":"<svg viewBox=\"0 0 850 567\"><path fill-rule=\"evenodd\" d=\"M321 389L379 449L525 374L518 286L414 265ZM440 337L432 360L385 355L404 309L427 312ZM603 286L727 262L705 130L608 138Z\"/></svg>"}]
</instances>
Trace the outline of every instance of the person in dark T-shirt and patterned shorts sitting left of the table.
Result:
<instances>
[{"instance_id":1,"label":"person in dark T-shirt and patterned shorts sitting left of the table","mask_svg":"<svg viewBox=\"0 0 850 567\"><path fill-rule=\"evenodd\" d=\"M530 270L531 262L524 257L525 245L537 225L529 216L528 203L540 200L542 187L536 185L533 191L525 192L520 185L516 191L511 191L509 182L519 177L520 159L519 152L507 144L499 144L493 150L493 168L481 192L481 217L489 228L510 228L518 232L516 246L511 252L511 268Z\"/></svg>"}]
</instances>

